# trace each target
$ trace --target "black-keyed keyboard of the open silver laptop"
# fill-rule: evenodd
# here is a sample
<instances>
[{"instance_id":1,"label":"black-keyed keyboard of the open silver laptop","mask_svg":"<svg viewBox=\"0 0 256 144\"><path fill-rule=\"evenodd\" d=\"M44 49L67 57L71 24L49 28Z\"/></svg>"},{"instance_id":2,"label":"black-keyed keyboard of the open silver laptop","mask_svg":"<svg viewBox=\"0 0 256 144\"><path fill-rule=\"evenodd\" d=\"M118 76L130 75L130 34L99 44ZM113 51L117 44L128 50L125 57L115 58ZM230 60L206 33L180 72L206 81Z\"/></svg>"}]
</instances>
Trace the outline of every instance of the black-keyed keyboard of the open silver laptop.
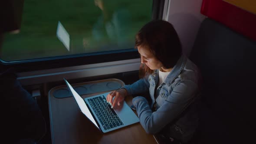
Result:
<instances>
[{"instance_id":1,"label":"black-keyed keyboard of the open silver laptop","mask_svg":"<svg viewBox=\"0 0 256 144\"><path fill-rule=\"evenodd\" d=\"M123 125L123 122L103 95L90 98L88 101L105 130Z\"/></svg>"}]
</instances>

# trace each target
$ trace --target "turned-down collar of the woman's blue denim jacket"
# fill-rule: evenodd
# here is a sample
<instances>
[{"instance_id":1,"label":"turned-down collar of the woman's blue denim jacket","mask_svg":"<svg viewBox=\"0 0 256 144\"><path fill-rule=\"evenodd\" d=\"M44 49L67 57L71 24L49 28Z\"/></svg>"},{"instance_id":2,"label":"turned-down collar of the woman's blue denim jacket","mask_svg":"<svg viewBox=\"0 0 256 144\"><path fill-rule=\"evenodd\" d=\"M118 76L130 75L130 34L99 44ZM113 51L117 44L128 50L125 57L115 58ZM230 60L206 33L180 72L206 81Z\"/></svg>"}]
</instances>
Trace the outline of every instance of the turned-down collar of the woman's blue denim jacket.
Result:
<instances>
[{"instance_id":1,"label":"turned-down collar of the woman's blue denim jacket","mask_svg":"<svg viewBox=\"0 0 256 144\"><path fill-rule=\"evenodd\" d=\"M182 55L181 58L177 61L176 65L174 65L173 69L167 75L164 83L167 84L168 86L171 85L171 82L177 78L178 75L180 75L181 71L184 69L184 66L187 62L187 57L185 55ZM158 82L158 72L159 70L156 69L152 73L152 77L155 80L155 82Z\"/></svg>"}]
</instances>

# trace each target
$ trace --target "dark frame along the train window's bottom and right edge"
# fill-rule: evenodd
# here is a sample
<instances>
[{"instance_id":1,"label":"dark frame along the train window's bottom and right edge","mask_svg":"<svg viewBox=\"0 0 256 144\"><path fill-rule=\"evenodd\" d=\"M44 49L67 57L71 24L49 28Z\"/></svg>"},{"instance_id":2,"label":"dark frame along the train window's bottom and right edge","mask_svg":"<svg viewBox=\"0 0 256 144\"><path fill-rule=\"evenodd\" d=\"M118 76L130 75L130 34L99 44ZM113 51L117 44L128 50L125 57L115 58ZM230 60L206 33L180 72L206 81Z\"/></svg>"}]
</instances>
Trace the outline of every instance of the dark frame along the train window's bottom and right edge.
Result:
<instances>
[{"instance_id":1,"label":"dark frame along the train window's bottom and right edge","mask_svg":"<svg viewBox=\"0 0 256 144\"><path fill-rule=\"evenodd\" d=\"M162 19L165 0L153 0L152 20ZM0 59L0 71L15 68L16 72L30 72L44 69L56 69L69 66L89 65L102 62L115 62L140 58L137 49L124 49L69 56L56 56L41 59L28 59L14 62L4 62ZM40 65L40 66L39 66Z\"/></svg>"}]
</instances>

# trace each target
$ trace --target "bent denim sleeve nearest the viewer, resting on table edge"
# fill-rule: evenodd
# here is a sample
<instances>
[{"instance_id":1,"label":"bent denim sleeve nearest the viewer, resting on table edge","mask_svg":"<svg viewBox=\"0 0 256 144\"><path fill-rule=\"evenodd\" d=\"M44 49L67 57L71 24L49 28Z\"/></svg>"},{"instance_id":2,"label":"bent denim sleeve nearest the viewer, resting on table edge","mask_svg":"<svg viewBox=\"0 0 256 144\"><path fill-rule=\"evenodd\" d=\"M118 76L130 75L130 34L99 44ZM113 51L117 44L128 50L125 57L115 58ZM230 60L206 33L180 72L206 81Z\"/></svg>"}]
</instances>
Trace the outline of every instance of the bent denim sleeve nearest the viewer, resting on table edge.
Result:
<instances>
[{"instance_id":1,"label":"bent denim sleeve nearest the viewer, resting on table edge","mask_svg":"<svg viewBox=\"0 0 256 144\"><path fill-rule=\"evenodd\" d=\"M174 87L163 105L157 111L152 112L148 101L141 96L132 100L136 107L140 123L149 134L161 131L167 124L173 121L181 112L187 108L197 92L197 84L184 80Z\"/></svg>"}]
</instances>

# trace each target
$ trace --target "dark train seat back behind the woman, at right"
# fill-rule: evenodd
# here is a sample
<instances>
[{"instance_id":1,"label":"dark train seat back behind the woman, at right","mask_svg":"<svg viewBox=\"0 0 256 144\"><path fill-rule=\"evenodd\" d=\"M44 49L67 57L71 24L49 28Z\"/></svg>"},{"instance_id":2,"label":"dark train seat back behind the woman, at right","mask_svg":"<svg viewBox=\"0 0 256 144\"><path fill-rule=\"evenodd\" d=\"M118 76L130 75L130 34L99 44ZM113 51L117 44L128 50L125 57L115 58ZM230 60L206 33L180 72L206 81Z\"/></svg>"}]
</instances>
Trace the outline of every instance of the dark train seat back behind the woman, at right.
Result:
<instances>
[{"instance_id":1,"label":"dark train seat back behind the woman, at right","mask_svg":"<svg viewBox=\"0 0 256 144\"><path fill-rule=\"evenodd\" d=\"M246 144L256 134L256 42L206 18L190 59L202 73L195 144Z\"/></svg>"}]
</instances>

